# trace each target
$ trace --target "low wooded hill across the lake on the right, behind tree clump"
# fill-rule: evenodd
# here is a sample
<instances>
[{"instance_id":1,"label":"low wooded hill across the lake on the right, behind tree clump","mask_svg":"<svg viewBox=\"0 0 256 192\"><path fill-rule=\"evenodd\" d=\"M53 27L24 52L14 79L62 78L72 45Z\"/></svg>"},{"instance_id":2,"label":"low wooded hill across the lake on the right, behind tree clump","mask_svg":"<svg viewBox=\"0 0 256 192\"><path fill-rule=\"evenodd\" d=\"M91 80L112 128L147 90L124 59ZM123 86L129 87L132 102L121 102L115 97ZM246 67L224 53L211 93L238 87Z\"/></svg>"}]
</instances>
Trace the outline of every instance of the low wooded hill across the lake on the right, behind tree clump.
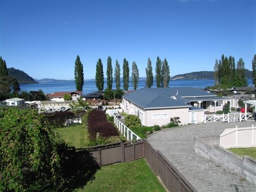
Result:
<instances>
[{"instance_id":1,"label":"low wooded hill across the lake on the right, behind tree clump","mask_svg":"<svg viewBox=\"0 0 256 192\"><path fill-rule=\"evenodd\" d=\"M247 79L252 79L252 71L246 69L245 76ZM200 72L191 72L188 74L180 74L177 76L171 77L172 80L185 80L185 79L214 79L213 71L200 71Z\"/></svg>"}]
</instances>

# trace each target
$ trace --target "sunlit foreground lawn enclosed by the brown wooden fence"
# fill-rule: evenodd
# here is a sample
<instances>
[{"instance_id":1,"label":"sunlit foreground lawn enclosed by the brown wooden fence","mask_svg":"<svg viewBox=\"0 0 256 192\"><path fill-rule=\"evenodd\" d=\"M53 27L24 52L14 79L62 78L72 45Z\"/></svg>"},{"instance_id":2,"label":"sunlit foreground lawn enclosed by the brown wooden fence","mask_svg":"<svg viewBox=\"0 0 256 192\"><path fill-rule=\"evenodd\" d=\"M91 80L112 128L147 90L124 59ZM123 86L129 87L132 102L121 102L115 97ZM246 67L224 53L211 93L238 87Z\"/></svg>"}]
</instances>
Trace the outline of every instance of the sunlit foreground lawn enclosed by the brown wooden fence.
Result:
<instances>
[{"instance_id":1,"label":"sunlit foreground lawn enclosed by the brown wooden fence","mask_svg":"<svg viewBox=\"0 0 256 192\"><path fill-rule=\"evenodd\" d=\"M74 191L165 191L145 159L102 166L83 188Z\"/></svg>"}]
</instances>

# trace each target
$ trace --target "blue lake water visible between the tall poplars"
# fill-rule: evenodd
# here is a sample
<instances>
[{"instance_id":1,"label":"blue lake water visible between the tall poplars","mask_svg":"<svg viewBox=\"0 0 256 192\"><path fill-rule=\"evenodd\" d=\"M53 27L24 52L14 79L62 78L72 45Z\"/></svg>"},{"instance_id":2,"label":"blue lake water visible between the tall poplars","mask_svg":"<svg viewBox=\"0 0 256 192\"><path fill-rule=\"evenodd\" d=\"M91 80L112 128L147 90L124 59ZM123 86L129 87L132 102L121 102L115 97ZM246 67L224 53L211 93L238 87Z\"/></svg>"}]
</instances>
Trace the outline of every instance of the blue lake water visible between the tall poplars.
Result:
<instances>
[{"instance_id":1,"label":"blue lake water visible between the tall poplars","mask_svg":"<svg viewBox=\"0 0 256 192\"><path fill-rule=\"evenodd\" d=\"M252 79L248 79L249 86L252 86ZM171 80L170 87L186 87L191 86L195 88L206 88L207 86L214 85L214 79L195 79L195 80ZM107 82L104 81L104 89L107 87ZM121 81L121 88L123 88L123 82ZM139 81L138 89L145 87L145 79ZM154 81L153 87L156 87L156 81ZM115 83L113 83L113 89L115 89ZM76 90L76 83L37 83L37 84L20 84L20 90L25 92L42 90L44 93L53 92L72 92ZM133 90L132 82L129 83L129 90ZM91 92L97 92L97 87L94 80L84 81L83 95Z\"/></svg>"}]
</instances>

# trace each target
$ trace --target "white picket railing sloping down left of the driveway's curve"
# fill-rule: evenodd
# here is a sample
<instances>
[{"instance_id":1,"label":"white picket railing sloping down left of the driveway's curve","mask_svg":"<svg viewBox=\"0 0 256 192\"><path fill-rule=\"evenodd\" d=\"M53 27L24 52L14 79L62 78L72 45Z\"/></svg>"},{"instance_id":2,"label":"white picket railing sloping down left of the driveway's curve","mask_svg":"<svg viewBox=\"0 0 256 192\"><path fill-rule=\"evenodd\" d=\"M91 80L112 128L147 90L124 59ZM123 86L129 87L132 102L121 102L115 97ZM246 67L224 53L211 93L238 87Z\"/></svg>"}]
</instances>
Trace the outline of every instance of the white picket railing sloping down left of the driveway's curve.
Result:
<instances>
[{"instance_id":1,"label":"white picket railing sloping down left of the driveway's curve","mask_svg":"<svg viewBox=\"0 0 256 192\"><path fill-rule=\"evenodd\" d=\"M114 123L117 129L127 138L127 141L141 140L141 138L126 127L116 116L114 116Z\"/></svg>"}]
</instances>

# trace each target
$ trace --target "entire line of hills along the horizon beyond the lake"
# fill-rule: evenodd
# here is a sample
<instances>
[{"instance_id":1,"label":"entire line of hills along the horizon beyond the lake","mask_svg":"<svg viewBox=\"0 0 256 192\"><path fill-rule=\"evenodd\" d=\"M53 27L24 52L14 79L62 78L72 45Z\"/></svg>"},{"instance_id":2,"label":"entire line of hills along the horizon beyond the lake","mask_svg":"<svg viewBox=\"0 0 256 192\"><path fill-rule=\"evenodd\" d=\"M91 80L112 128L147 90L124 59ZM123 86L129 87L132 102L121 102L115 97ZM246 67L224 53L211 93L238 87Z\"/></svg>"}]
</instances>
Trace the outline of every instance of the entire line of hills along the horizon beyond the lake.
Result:
<instances>
[{"instance_id":1,"label":"entire line of hills along the horizon beyond the lake","mask_svg":"<svg viewBox=\"0 0 256 192\"><path fill-rule=\"evenodd\" d=\"M29 83L63 83L63 82L74 82L74 80L61 80L61 79L33 79L26 72L15 68L8 68L9 76L15 77L19 84L29 84ZM246 69L245 76L248 79L252 79L252 71ZM141 79L145 77L140 77ZM131 79L131 78L130 78ZM187 74L179 74L177 76L171 77L171 80L187 80L187 79L214 79L213 71L200 71L191 72ZM86 79L84 81L92 81L93 79ZM104 79L106 81L106 79Z\"/></svg>"}]
</instances>

